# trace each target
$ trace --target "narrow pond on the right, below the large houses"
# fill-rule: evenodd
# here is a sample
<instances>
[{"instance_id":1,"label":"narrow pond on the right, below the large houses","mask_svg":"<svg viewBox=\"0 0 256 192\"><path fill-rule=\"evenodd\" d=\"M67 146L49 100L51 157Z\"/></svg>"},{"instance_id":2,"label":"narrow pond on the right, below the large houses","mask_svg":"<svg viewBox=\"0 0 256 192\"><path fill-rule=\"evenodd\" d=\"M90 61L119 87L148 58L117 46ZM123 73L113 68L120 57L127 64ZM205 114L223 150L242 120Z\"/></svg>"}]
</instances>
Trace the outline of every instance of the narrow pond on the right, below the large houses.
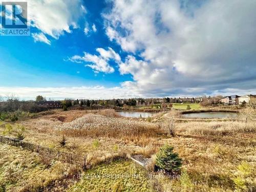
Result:
<instances>
[{"instance_id":1,"label":"narrow pond on the right, below the large houses","mask_svg":"<svg viewBox=\"0 0 256 192\"><path fill-rule=\"evenodd\" d=\"M186 118L202 118L202 119L212 119L212 118L237 118L238 113L232 112L201 112L201 113L187 113L182 114Z\"/></svg>"}]
</instances>

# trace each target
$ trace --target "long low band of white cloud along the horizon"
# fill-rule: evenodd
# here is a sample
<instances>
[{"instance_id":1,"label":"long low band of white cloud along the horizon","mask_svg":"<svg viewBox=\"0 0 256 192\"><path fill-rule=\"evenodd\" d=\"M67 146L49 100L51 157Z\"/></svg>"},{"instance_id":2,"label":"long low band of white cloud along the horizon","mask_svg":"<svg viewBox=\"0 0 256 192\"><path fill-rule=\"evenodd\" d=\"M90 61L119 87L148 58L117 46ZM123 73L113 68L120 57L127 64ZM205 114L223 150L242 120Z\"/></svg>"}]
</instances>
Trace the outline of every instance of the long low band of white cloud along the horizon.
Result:
<instances>
[{"instance_id":1,"label":"long low band of white cloud along the horizon","mask_svg":"<svg viewBox=\"0 0 256 192\"><path fill-rule=\"evenodd\" d=\"M15 95L20 100L31 100L35 99L37 95L43 95L44 97L51 98L54 100L73 98L73 99L116 99L116 98L152 98L152 97L183 97L183 96L199 96L202 93L202 89L191 89L187 88L186 92L175 95L166 95L166 93L158 91L156 93L145 93L141 94L139 90L134 90L132 86L133 82L125 82L122 87L111 87L106 88L103 86L94 87L0 87L0 97L6 98L8 95ZM175 90L174 90L175 91ZM104 93L104 94L102 94ZM255 94L256 89L224 89L218 90L213 95L245 95ZM182 95L183 94L183 95Z\"/></svg>"}]
</instances>

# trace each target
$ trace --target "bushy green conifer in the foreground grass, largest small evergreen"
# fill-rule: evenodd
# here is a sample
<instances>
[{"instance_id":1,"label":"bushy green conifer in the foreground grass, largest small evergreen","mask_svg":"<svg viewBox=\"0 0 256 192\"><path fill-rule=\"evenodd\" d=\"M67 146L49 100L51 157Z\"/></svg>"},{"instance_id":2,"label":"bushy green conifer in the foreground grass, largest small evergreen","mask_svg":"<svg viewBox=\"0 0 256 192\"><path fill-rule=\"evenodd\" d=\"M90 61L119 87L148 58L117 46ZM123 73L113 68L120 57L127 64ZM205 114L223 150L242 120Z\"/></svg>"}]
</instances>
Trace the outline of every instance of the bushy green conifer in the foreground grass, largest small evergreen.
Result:
<instances>
[{"instance_id":1,"label":"bushy green conifer in the foreground grass, largest small evergreen","mask_svg":"<svg viewBox=\"0 0 256 192\"><path fill-rule=\"evenodd\" d=\"M170 145L162 146L157 153L156 165L168 172L180 170L182 159L173 150L174 147Z\"/></svg>"}]
</instances>

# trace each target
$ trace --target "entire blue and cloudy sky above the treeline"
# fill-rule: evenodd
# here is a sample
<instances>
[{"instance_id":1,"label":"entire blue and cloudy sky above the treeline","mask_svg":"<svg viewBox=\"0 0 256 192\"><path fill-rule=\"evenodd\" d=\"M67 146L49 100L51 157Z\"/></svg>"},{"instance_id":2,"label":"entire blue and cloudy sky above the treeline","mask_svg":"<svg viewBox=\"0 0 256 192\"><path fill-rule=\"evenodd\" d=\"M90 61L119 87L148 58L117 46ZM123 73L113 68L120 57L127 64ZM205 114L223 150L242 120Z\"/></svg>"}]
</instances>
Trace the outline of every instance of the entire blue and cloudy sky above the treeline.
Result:
<instances>
[{"instance_id":1,"label":"entire blue and cloudy sky above the treeline","mask_svg":"<svg viewBox=\"0 0 256 192\"><path fill-rule=\"evenodd\" d=\"M256 94L255 10L255 0L28 0L31 35L0 36L0 95Z\"/></svg>"}]
</instances>

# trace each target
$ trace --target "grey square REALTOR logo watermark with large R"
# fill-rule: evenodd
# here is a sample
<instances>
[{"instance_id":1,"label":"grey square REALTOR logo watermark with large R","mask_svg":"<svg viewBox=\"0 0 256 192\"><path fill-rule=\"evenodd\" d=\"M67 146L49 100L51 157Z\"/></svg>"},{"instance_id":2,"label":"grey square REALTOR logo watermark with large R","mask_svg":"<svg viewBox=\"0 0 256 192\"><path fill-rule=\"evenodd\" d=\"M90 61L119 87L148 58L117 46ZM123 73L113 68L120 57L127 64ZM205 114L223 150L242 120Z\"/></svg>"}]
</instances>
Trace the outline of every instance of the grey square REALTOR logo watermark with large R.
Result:
<instances>
[{"instance_id":1,"label":"grey square REALTOR logo watermark with large R","mask_svg":"<svg viewBox=\"0 0 256 192\"><path fill-rule=\"evenodd\" d=\"M28 3L1 2L1 36L29 36Z\"/></svg>"}]
</instances>

